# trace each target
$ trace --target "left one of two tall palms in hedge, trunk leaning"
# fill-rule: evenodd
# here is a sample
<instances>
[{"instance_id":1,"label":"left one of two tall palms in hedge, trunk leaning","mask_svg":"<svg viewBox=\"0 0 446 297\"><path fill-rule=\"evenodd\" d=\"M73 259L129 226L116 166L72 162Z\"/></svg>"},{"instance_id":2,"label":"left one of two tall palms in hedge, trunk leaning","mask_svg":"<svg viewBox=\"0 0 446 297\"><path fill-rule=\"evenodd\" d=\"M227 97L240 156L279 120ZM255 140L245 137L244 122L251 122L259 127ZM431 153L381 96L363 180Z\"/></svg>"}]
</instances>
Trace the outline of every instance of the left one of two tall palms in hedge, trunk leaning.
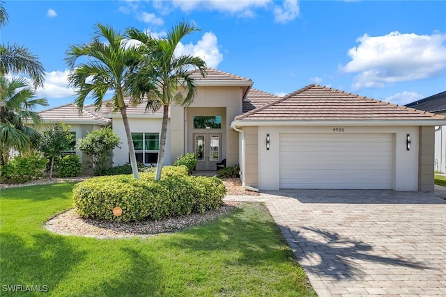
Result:
<instances>
[{"instance_id":1,"label":"left one of two tall palms in hedge, trunk leaning","mask_svg":"<svg viewBox=\"0 0 446 297\"><path fill-rule=\"evenodd\" d=\"M104 41L102 41L104 40ZM137 100L125 102L125 79L130 67L137 57L137 47L127 47L124 36L111 26L95 25L93 40L81 45L72 45L66 52L66 63L71 68L68 76L70 86L77 89L75 104L79 111L84 107L85 99L92 95L95 99L95 109L102 107L104 96L112 91L114 111L120 111L130 153L130 165L136 179L139 179L137 159L130 125L127 118L128 104L137 104ZM86 58L77 63L79 58Z\"/></svg>"}]
</instances>

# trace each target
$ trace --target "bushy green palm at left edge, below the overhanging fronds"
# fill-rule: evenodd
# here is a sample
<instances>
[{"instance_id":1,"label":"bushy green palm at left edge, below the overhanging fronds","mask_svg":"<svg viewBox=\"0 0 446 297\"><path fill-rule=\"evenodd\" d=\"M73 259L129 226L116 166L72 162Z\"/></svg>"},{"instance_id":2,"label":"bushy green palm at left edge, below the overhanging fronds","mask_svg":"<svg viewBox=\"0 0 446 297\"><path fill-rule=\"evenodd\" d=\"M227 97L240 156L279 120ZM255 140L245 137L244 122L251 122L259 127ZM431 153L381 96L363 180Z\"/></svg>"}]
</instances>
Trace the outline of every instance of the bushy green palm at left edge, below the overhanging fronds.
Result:
<instances>
[{"instance_id":1,"label":"bushy green palm at left edge, below the overhanging fronds","mask_svg":"<svg viewBox=\"0 0 446 297\"><path fill-rule=\"evenodd\" d=\"M47 99L37 99L24 77L0 77L0 165L8 163L11 149L25 152L36 148L40 134L26 125L38 125L38 106L48 106Z\"/></svg>"}]
</instances>

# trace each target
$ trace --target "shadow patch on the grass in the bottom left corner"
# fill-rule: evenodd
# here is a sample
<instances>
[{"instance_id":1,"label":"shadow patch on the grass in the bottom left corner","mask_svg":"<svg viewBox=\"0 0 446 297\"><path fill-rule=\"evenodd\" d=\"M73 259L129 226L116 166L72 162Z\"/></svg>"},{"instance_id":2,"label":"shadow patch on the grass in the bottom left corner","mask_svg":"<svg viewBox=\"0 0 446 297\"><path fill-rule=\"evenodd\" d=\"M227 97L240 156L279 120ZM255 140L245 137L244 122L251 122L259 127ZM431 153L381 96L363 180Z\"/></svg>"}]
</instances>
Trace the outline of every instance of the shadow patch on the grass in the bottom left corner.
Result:
<instances>
[{"instance_id":1,"label":"shadow patch on the grass in the bottom left corner","mask_svg":"<svg viewBox=\"0 0 446 297\"><path fill-rule=\"evenodd\" d=\"M40 289L46 285L51 294L86 254L63 236L49 233L38 233L25 241L16 234L2 232L0 238L2 289L3 285L32 285L40 286ZM1 291L1 295L7 296L8 292Z\"/></svg>"}]
</instances>

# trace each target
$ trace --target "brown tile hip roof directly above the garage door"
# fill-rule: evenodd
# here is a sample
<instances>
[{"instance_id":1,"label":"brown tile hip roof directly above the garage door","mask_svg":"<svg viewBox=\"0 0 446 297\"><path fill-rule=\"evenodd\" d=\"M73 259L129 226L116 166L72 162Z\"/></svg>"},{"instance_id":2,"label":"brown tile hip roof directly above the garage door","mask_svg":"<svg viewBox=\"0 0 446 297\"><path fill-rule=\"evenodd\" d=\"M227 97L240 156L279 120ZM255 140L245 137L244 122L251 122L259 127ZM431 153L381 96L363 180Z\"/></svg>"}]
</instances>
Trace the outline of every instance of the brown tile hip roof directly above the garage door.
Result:
<instances>
[{"instance_id":1,"label":"brown tile hip roof directly above the garage door","mask_svg":"<svg viewBox=\"0 0 446 297\"><path fill-rule=\"evenodd\" d=\"M435 119L445 117L315 84L236 117L236 120Z\"/></svg>"}]
</instances>

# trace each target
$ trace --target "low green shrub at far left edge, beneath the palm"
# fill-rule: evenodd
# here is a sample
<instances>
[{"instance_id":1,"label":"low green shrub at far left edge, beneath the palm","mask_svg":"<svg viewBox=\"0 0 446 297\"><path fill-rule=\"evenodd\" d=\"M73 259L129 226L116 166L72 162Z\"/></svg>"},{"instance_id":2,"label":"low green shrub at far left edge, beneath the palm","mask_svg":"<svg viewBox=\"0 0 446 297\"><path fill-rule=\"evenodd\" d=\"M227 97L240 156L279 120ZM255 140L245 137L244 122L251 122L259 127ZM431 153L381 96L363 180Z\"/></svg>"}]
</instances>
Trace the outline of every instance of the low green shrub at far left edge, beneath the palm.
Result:
<instances>
[{"instance_id":1,"label":"low green shrub at far left edge, beneath the palm","mask_svg":"<svg viewBox=\"0 0 446 297\"><path fill-rule=\"evenodd\" d=\"M1 166L0 179L1 182L22 184L29 182L31 179L42 178L46 166L47 159L42 158L39 154L14 156L13 159L10 159L8 165Z\"/></svg>"}]
</instances>

